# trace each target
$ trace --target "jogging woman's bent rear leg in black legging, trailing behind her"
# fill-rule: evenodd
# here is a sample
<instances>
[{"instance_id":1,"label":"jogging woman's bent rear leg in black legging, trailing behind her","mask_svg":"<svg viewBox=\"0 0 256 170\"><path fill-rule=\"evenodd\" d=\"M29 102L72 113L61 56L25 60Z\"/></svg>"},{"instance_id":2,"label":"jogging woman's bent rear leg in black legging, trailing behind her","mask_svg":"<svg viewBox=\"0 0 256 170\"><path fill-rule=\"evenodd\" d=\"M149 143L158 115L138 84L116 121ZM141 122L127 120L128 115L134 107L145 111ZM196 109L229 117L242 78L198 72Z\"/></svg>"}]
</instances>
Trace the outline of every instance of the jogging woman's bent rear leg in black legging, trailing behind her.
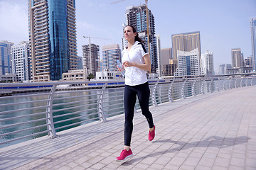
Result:
<instances>
[{"instance_id":1,"label":"jogging woman's bent rear leg in black legging, trailing behind her","mask_svg":"<svg viewBox=\"0 0 256 170\"><path fill-rule=\"evenodd\" d=\"M149 123L149 128L154 128L152 114L149 111L149 83L146 82L145 84L139 85L137 88L137 94L139 98L139 105L142 108L142 114L146 117L146 120Z\"/></svg>"}]
</instances>

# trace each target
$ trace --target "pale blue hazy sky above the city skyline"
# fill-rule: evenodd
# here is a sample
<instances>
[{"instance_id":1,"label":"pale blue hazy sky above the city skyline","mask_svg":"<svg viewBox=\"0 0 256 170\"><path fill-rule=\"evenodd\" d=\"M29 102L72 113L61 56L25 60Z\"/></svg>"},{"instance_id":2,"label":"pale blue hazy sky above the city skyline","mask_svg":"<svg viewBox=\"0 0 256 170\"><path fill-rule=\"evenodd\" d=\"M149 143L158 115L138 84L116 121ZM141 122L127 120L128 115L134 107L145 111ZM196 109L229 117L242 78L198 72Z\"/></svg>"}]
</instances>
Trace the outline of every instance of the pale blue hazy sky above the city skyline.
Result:
<instances>
[{"instance_id":1,"label":"pale blue hazy sky above the city skyline","mask_svg":"<svg viewBox=\"0 0 256 170\"><path fill-rule=\"evenodd\" d=\"M78 56L82 45L119 44L127 6L144 0L76 0ZM231 49L241 48L244 57L252 55L250 18L256 18L256 0L148 0L155 18L161 48L171 47L171 35L200 31L201 52L213 52L215 72L219 64L231 63ZM27 0L0 0L0 40L18 44L28 41ZM102 52L100 52L102 56Z\"/></svg>"}]
</instances>

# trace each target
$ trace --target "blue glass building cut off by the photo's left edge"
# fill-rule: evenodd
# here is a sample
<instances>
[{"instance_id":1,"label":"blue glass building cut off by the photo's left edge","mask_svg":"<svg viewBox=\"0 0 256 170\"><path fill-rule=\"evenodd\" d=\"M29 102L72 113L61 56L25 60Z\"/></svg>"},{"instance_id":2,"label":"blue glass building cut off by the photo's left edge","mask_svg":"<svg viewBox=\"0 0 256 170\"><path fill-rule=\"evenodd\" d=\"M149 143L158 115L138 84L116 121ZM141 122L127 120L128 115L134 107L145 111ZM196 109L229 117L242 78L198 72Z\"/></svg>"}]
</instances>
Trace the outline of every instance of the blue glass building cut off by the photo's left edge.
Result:
<instances>
[{"instance_id":1,"label":"blue glass building cut off by the photo's left edge","mask_svg":"<svg viewBox=\"0 0 256 170\"><path fill-rule=\"evenodd\" d=\"M11 46L12 42L0 41L0 75L11 74Z\"/></svg>"}]
</instances>

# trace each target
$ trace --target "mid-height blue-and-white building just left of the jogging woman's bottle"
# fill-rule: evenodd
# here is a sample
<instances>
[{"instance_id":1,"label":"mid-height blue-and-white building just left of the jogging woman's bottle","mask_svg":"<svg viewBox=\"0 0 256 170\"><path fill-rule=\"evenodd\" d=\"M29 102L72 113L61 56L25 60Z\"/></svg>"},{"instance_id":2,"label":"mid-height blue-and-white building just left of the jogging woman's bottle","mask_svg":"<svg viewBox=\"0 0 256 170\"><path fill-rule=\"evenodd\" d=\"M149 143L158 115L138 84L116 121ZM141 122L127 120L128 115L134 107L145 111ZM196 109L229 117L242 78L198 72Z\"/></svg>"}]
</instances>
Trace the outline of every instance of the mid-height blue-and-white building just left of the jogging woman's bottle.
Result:
<instances>
[{"instance_id":1,"label":"mid-height blue-and-white building just left of the jogging woman's bottle","mask_svg":"<svg viewBox=\"0 0 256 170\"><path fill-rule=\"evenodd\" d=\"M117 70L117 60L121 60L121 50L118 44L102 47L103 70Z\"/></svg>"}]
</instances>

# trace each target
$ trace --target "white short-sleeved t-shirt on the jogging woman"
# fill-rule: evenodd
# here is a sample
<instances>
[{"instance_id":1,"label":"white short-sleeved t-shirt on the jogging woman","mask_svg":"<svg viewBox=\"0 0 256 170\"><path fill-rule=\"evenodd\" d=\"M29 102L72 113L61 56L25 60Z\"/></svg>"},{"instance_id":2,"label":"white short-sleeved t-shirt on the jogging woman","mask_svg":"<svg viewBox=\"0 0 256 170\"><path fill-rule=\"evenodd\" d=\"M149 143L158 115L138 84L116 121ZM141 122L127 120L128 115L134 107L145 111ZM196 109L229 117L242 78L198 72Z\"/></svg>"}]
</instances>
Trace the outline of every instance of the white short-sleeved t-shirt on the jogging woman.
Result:
<instances>
[{"instance_id":1,"label":"white short-sleeved t-shirt on the jogging woman","mask_svg":"<svg viewBox=\"0 0 256 170\"><path fill-rule=\"evenodd\" d=\"M129 51L126 47L122 51L122 63L129 61L144 64L143 57L147 54L147 52L144 52L142 44L136 41ZM126 85L136 86L139 84L144 84L146 81L148 81L144 69L139 69L137 67L124 67L124 69Z\"/></svg>"}]
</instances>

